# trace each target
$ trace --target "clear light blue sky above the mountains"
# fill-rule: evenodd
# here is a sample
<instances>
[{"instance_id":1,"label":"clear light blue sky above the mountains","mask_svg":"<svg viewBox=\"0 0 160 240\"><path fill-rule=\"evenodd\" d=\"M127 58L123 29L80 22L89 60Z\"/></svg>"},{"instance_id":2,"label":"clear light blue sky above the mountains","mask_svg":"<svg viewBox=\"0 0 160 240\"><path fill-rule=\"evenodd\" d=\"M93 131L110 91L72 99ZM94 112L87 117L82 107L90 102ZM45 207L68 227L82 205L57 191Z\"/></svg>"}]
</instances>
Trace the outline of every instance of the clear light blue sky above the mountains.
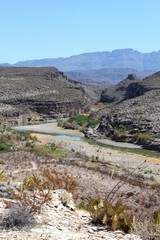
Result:
<instances>
[{"instance_id":1,"label":"clear light blue sky above the mountains","mask_svg":"<svg viewBox=\"0 0 160 240\"><path fill-rule=\"evenodd\" d=\"M0 63L160 50L160 0L0 0Z\"/></svg>"}]
</instances>

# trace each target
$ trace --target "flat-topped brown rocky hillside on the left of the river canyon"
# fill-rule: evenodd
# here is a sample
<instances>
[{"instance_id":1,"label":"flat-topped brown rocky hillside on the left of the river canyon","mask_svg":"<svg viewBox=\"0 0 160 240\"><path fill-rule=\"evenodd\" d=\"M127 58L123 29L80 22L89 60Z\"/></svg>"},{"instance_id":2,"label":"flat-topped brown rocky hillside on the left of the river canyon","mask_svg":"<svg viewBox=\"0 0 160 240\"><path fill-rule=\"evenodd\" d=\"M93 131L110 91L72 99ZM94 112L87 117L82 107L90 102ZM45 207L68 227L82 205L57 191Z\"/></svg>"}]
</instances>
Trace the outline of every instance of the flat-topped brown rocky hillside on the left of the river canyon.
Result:
<instances>
[{"instance_id":1,"label":"flat-topped brown rocky hillside on the left of the river canyon","mask_svg":"<svg viewBox=\"0 0 160 240\"><path fill-rule=\"evenodd\" d=\"M53 67L1 67L0 85L1 119L24 115L66 117L86 111L90 96L94 98L91 90Z\"/></svg>"}]
</instances>

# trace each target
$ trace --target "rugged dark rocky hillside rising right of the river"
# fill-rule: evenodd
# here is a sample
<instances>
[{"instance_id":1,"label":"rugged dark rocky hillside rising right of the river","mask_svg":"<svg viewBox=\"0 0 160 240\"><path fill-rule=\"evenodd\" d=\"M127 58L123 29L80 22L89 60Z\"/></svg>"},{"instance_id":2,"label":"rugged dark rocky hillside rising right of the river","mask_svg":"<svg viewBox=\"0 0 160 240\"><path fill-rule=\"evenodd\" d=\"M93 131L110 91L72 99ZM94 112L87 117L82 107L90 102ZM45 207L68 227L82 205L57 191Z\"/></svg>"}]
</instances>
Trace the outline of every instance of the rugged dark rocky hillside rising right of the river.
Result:
<instances>
[{"instance_id":1,"label":"rugged dark rocky hillside rising right of the river","mask_svg":"<svg viewBox=\"0 0 160 240\"><path fill-rule=\"evenodd\" d=\"M160 150L160 72L143 80L129 75L105 90L101 101L109 105L97 113L98 134Z\"/></svg>"}]
</instances>

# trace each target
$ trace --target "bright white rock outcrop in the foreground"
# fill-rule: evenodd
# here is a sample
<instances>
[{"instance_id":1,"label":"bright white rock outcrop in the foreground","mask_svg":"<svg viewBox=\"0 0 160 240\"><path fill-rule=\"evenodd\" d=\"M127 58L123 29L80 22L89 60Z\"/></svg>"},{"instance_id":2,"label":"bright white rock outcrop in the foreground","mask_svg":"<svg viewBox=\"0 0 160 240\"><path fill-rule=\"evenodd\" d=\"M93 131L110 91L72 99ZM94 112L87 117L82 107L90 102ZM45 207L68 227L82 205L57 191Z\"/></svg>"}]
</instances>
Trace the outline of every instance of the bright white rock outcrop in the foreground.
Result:
<instances>
[{"instance_id":1,"label":"bright white rock outcrop in the foreground","mask_svg":"<svg viewBox=\"0 0 160 240\"><path fill-rule=\"evenodd\" d=\"M0 238L9 239L30 239L30 240L141 240L134 234L125 234L122 231L111 232L106 226L96 226L91 224L90 214L86 211L73 209L70 203L65 205L62 200L62 193L70 198L71 194L65 190L56 190L52 193L52 200L42 206L40 214L36 214L36 222L30 226L30 229L2 230ZM8 214L8 209L4 202L11 204L16 202L0 198L0 213L2 219ZM71 205L72 200L70 201ZM15 211L16 212L16 211ZM24 214L23 212L21 213ZM14 216L16 219L16 217ZM1 223L3 226L3 224Z\"/></svg>"}]
</instances>

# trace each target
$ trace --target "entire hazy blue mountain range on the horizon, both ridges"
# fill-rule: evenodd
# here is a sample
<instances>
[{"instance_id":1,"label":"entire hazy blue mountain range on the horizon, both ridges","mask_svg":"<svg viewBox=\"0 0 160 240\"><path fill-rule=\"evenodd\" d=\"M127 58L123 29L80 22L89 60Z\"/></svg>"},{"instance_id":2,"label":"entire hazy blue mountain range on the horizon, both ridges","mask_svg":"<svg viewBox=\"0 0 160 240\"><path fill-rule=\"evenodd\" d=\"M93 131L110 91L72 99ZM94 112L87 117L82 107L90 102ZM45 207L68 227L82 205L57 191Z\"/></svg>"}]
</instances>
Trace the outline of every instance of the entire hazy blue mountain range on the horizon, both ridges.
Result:
<instances>
[{"instance_id":1,"label":"entire hazy blue mountain range on the horizon, both ridges","mask_svg":"<svg viewBox=\"0 0 160 240\"><path fill-rule=\"evenodd\" d=\"M67 58L47 58L27 60L15 64L2 63L1 66L48 67L54 66L75 80L87 85L111 85L135 73L144 78L160 70L160 51L141 53L128 49L111 52L82 53Z\"/></svg>"}]
</instances>

